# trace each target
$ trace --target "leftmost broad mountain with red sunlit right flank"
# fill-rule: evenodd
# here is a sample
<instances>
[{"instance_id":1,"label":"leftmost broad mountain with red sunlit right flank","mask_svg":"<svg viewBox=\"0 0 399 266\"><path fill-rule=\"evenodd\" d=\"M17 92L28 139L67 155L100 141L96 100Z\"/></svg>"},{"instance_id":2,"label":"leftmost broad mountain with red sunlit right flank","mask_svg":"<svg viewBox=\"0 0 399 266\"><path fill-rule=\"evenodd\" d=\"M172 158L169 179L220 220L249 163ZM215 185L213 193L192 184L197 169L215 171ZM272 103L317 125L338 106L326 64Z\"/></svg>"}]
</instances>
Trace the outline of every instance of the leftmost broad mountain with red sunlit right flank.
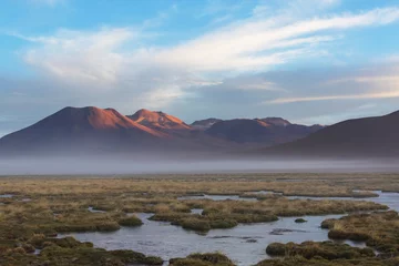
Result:
<instances>
[{"instance_id":1,"label":"leftmost broad mountain with red sunlit right flank","mask_svg":"<svg viewBox=\"0 0 399 266\"><path fill-rule=\"evenodd\" d=\"M143 126L113 109L64 108L0 139L0 150L19 153L114 151L142 146L167 134Z\"/></svg>"}]
</instances>

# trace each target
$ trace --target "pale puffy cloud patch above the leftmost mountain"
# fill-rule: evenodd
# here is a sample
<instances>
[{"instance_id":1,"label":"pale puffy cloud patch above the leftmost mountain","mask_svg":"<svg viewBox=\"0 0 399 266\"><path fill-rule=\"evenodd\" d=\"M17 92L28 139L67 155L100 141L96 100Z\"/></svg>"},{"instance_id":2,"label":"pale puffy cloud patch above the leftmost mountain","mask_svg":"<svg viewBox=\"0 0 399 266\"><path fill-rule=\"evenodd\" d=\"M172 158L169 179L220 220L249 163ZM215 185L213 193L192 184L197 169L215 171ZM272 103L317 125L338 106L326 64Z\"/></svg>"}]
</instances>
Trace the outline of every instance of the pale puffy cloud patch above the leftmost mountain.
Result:
<instances>
[{"instance_id":1,"label":"pale puffy cloud patch above the leftmost mountain","mask_svg":"<svg viewBox=\"0 0 399 266\"><path fill-rule=\"evenodd\" d=\"M64 81L103 82L117 80L125 66L124 54L116 50L132 40L135 32L130 29L102 29L98 32L60 30L53 37L21 37L41 44L30 49L24 60Z\"/></svg>"}]
</instances>

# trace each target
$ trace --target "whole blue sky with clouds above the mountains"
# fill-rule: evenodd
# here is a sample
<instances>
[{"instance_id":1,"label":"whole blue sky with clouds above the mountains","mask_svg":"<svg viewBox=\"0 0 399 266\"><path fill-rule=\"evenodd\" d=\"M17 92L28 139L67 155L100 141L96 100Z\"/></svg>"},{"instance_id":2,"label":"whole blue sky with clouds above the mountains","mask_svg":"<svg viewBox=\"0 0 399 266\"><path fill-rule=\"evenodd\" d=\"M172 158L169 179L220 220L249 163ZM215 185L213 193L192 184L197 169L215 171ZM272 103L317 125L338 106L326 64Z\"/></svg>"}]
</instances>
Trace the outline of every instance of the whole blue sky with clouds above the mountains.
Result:
<instances>
[{"instance_id":1,"label":"whole blue sky with clouds above the mountains","mask_svg":"<svg viewBox=\"0 0 399 266\"><path fill-rule=\"evenodd\" d=\"M187 123L399 110L398 0L3 0L0 136L64 106Z\"/></svg>"}]
</instances>

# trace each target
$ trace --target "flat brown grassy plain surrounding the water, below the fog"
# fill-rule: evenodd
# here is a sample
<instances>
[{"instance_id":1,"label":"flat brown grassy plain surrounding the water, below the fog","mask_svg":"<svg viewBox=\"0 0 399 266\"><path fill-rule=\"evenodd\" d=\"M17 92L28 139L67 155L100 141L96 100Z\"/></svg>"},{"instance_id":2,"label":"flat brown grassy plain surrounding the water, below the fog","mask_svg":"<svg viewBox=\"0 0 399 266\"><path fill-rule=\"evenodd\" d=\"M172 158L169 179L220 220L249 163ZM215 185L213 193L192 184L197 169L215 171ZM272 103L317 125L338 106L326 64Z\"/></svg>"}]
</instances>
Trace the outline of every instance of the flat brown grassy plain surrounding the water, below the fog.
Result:
<instances>
[{"instance_id":1,"label":"flat brown grassy plain surrounding the water, below the fog","mask_svg":"<svg viewBox=\"0 0 399 266\"><path fill-rule=\"evenodd\" d=\"M65 236L145 226L137 215L142 213L198 235L283 217L336 214L342 217L319 225L331 241L273 243L264 247L269 257L257 265L399 265L398 213L374 201L377 192L399 193L399 175L2 176L0 265L236 265L217 246L213 253L166 259Z\"/></svg>"}]
</instances>

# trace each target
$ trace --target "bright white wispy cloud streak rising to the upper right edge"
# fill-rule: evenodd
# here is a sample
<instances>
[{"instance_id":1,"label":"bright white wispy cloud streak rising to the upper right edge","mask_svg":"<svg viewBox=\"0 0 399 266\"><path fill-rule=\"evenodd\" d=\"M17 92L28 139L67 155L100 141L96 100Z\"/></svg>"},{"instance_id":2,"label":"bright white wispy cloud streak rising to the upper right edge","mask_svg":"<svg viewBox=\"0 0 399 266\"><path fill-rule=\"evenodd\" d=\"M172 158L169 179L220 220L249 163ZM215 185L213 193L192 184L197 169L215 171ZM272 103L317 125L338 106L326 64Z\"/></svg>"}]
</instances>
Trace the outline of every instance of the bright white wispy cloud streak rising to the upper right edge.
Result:
<instances>
[{"instance_id":1,"label":"bright white wispy cloud streak rising to the upper right edge","mask_svg":"<svg viewBox=\"0 0 399 266\"><path fill-rule=\"evenodd\" d=\"M172 49L154 52L156 64L191 68L193 71L258 71L317 51L317 44L337 37L318 35L326 30L386 24L399 19L399 8L376 9L291 21L279 18L245 20L206 33ZM311 37L306 37L314 34ZM303 49L311 48L311 49ZM284 49L284 51L274 51Z\"/></svg>"}]
</instances>

